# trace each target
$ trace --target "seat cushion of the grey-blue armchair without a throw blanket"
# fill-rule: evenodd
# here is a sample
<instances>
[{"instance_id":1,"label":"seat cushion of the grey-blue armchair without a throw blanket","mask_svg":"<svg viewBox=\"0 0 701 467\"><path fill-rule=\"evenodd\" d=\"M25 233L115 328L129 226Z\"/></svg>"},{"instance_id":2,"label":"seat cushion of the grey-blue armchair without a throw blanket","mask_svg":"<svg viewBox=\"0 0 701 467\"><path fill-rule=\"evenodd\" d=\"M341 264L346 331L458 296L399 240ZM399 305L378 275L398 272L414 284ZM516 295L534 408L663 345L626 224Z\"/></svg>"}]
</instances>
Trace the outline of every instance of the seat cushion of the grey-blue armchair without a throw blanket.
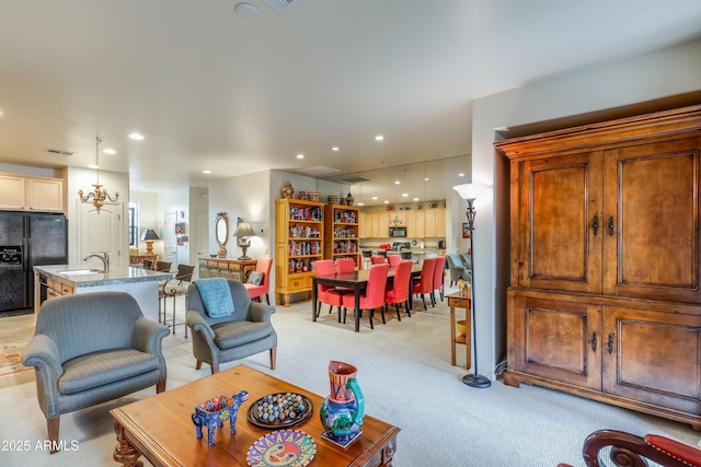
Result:
<instances>
[{"instance_id":1,"label":"seat cushion of the grey-blue armchair without a throw blanket","mask_svg":"<svg viewBox=\"0 0 701 467\"><path fill-rule=\"evenodd\" d=\"M64 363L58 390L61 394L80 393L158 370L158 366L156 355L134 349L94 352Z\"/></svg>"}]
</instances>

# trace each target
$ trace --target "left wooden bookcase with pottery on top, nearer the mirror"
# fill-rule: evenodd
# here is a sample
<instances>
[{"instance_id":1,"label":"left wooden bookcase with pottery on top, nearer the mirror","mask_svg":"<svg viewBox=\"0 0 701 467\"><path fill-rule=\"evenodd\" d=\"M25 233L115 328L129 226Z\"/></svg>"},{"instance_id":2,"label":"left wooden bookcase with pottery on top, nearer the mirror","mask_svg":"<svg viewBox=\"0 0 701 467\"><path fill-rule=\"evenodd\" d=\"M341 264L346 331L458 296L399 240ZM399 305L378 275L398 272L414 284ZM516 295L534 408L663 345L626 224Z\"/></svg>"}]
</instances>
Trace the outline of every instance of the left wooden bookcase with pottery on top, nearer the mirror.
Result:
<instances>
[{"instance_id":1,"label":"left wooden bookcase with pottery on top, nearer the mirror","mask_svg":"<svg viewBox=\"0 0 701 467\"><path fill-rule=\"evenodd\" d=\"M275 200L275 295L289 306L290 295L311 292L314 261L323 258L324 203Z\"/></svg>"}]
</instances>

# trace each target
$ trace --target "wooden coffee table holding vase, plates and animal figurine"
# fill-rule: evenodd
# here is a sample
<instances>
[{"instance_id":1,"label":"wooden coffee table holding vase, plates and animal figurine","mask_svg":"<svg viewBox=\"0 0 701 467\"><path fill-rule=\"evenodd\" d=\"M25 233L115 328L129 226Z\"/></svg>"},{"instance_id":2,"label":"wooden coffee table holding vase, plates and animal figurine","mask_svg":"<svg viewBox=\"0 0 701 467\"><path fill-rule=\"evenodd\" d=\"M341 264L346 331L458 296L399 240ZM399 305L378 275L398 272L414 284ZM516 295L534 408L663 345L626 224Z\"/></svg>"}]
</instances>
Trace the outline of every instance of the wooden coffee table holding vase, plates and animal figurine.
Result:
<instances>
[{"instance_id":1,"label":"wooden coffee table holding vase, plates and animal figurine","mask_svg":"<svg viewBox=\"0 0 701 467\"><path fill-rule=\"evenodd\" d=\"M325 369L320 369L319 377L327 377ZM191 418L195 405L221 394L231 396L241 389L249 392L249 400L239 410L237 432L229 432L227 421L217 428L215 445L207 445L207 429L203 429L203 436L198 439ZM303 431L317 444L317 455L310 467L392 465L399 428L366 415L363 434L343 450L321 437L319 407L322 397L243 365L111 410L117 434L114 459L124 466L142 465L140 456L157 467L246 466L251 445L274 431L252 424L246 417L249 407L268 394L288 392L309 397L314 406L308 420L291 428Z\"/></svg>"}]
</instances>

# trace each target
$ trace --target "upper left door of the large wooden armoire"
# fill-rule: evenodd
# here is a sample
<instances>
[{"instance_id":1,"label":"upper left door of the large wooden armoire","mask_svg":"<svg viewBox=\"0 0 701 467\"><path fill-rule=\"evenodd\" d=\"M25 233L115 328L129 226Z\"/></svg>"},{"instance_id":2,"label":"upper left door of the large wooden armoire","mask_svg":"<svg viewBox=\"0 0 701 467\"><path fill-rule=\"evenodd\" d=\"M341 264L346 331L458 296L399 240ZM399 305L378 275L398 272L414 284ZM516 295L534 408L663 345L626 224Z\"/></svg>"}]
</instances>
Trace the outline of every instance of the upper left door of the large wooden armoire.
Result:
<instances>
[{"instance_id":1,"label":"upper left door of the large wooden armoire","mask_svg":"<svg viewBox=\"0 0 701 467\"><path fill-rule=\"evenodd\" d=\"M519 284L600 291L600 153L524 162Z\"/></svg>"}]
</instances>

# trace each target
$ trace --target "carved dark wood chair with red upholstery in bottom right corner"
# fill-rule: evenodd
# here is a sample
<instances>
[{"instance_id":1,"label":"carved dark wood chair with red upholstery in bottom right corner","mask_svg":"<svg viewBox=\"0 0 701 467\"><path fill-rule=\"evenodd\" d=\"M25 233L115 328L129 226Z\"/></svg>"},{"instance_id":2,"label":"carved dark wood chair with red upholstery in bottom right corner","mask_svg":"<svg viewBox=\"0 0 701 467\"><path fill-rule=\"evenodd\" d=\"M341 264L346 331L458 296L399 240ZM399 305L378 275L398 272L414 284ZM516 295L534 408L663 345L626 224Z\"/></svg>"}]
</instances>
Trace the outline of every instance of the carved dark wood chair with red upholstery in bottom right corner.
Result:
<instances>
[{"instance_id":1,"label":"carved dark wood chair with red upholstery in bottom right corner","mask_svg":"<svg viewBox=\"0 0 701 467\"><path fill-rule=\"evenodd\" d=\"M618 430L598 430L584 441L582 455L587 467L598 467L599 453L611 447L610 460L614 466L646 466L647 460L666 467L689 467L701 465L701 451L658 434L637 436ZM604 459L601 459L604 460ZM609 465L609 464L606 464ZM558 464L558 467L572 467Z\"/></svg>"}]
</instances>

